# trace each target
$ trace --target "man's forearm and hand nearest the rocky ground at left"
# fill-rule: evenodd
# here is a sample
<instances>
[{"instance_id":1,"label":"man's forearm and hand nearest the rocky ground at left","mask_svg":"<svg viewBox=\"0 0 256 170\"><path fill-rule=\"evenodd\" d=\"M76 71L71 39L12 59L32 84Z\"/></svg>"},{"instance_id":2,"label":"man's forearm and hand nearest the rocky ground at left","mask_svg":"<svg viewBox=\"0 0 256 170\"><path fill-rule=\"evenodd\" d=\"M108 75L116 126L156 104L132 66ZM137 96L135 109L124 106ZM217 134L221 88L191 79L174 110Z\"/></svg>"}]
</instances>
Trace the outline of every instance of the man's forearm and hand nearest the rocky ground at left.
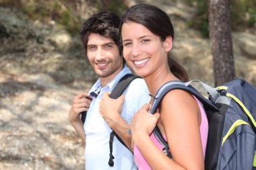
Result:
<instances>
[{"instance_id":1,"label":"man's forearm and hand nearest the rocky ground at left","mask_svg":"<svg viewBox=\"0 0 256 170\"><path fill-rule=\"evenodd\" d=\"M86 134L84 132L84 124L80 119L80 113L88 110L91 100L92 98L88 93L80 93L74 97L69 111L69 122L84 142L86 142Z\"/></svg>"}]
</instances>

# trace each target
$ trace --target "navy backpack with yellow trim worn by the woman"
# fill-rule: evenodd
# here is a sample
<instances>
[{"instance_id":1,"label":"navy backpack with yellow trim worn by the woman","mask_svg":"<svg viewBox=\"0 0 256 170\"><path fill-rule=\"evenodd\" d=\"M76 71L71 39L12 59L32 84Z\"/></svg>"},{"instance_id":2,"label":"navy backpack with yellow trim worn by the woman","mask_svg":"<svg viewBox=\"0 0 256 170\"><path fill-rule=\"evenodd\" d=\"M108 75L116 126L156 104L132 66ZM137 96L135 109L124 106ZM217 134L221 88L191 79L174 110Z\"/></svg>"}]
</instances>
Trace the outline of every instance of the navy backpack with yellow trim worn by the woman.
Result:
<instances>
[{"instance_id":1,"label":"navy backpack with yellow trim worn by the woman","mask_svg":"<svg viewBox=\"0 0 256 170\"><path fill-rule=\"evenodd\" d=\"M203 97L190 84L170 81L156 93L151 113L158 109L164 95L172 89L183 89L193 94L205 109L209 123L205 151L205 169L256 169L256 89L243 79L210 87L201 83L208 92ZM154 135L163 146L163 152L170 158L168 143L156 126Z\"/></svg>"}]
</instances>

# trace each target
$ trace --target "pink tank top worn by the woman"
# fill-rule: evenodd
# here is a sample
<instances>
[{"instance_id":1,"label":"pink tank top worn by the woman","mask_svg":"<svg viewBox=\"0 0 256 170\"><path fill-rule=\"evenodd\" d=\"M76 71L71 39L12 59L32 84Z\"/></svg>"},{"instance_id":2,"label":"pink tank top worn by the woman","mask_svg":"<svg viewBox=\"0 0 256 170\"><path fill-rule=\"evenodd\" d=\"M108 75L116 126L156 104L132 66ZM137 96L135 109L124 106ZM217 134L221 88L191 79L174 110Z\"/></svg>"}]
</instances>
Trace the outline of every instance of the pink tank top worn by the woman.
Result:
<instances>
[{"instance_id":1,"label":"pink tank top worn by the woman","mask_svg":"<svg viewBox=\"0 0 256 170\"><path fill-rule=\"evenodd\" d=\"M203 105L196 97L194 97L194 98L197 101L199 108L200 108L200 112L201 112L200 133L201 133L201 143L202 143L202 147L203 147L203 158L204 158L206 142L207 142L207 135L208 135L208 121L207 121L207 117L205 114L205 110L203 109ZM156 146L160 149L160 151L162 151L162 148L163 148L162 144L160 144L160 142L158 142L158 140L156 139L156 136L153 133L150 135L150 138L154 142L154 144L156 144ZM139 148L137 148L136 145L134 145L133 152L134 152L134 161L135 161L137 167L139 168L139 170L150 170L151 167L150 167L149 163L146 161L146 159L144 159L143 155L141 155L141 152L139 151Z\"/></svg>"}]
</instances>

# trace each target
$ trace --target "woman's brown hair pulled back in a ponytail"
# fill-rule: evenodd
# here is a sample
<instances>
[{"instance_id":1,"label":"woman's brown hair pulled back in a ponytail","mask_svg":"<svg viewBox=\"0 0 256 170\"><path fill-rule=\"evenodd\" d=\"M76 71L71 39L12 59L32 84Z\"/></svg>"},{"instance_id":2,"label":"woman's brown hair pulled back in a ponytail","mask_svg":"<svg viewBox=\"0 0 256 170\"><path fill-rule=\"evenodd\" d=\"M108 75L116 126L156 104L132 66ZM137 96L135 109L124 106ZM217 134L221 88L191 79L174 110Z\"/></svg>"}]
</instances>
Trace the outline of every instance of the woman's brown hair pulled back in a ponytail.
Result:
<instances>
[{"instance_id":1,"label":"woman's brown hair pulled back in a ponytail","mask_svg":"<svg viewBox=\"0 0 256 170\"><path fill-rule=\"evenodd\" d=\"M164 11L153 5L138 4L129 7L121 18L119 34L121 34L122 26L125 22L135 22L145 26L150 32L159 36L162 42L166 40L167 36L171 36L172 41L174 40L174 30L170 18ZM170 56L168 56L168 66L172 74L178 79L181 81L189 80L187 71Z\"/></svg>"}]
</instances>

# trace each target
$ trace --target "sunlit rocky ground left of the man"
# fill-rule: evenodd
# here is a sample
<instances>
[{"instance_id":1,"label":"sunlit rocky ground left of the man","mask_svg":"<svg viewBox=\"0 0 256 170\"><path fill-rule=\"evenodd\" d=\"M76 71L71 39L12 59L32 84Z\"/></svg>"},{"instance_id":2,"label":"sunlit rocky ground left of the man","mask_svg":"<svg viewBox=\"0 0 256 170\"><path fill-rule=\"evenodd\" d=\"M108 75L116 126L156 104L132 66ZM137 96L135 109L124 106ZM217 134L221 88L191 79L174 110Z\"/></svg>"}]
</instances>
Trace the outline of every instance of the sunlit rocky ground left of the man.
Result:
<instances>
[{"instance_id":1,"label":"sunlit rocky ground left of the man","mask_svg":"<svg viewBox=\"0 0 256 170\"><path fill-rule=\"evenodd\" d=\"M68 112L96 77L79 38L4 8L0 28L0 169L84 169Z\"/></svg>"}]
</instances>

